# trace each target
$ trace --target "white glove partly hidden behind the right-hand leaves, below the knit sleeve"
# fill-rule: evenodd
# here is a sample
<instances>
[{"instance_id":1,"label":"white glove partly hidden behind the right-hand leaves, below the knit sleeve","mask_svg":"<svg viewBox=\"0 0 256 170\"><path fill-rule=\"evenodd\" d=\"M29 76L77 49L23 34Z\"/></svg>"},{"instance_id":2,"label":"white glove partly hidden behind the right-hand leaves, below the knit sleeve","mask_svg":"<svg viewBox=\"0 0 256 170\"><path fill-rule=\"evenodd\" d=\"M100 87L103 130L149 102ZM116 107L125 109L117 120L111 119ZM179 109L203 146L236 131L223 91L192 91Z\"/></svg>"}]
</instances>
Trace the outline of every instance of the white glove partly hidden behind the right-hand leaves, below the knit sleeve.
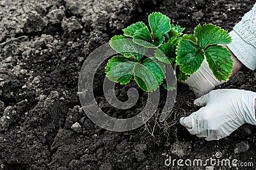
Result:
<instances>
[{"instance_id":1,"label":"white glove partly hidden behind the right-hand leaves, below the knit sleeve","mask_svg":"<svg viewBox=\"0 0 256 170\"><path fill-rule=\"evenodd\" d=\"M201 97L209 93L216 86L220 86L225 81L218 81L210 70L206 60L202 63L199 70L185 81L186 84L194 91L196 97Z\"/></svg>"}]
</instances>

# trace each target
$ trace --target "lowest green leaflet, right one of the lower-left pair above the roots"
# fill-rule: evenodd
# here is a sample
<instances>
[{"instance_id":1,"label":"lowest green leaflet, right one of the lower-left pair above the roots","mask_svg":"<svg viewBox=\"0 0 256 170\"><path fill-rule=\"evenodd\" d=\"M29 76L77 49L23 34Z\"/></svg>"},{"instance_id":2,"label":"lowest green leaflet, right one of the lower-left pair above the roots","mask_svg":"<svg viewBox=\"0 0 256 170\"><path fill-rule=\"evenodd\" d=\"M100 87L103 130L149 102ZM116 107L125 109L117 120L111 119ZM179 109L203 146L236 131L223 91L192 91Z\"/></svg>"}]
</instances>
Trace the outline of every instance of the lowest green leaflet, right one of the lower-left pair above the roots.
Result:
<instances>
[{"instance_id":1,"label":"lowest green leaflet, right one of the lower-left pair above the roots","mask_svg":"<svg viewBox=\"0 0 256 170\"><path fill-rule=\"evenodd\" d=\"M141 64L134 66L134 79L141 89L147 92L155 91L165 78L163 63L147 58Z\"/></svg>"}]
</instances>

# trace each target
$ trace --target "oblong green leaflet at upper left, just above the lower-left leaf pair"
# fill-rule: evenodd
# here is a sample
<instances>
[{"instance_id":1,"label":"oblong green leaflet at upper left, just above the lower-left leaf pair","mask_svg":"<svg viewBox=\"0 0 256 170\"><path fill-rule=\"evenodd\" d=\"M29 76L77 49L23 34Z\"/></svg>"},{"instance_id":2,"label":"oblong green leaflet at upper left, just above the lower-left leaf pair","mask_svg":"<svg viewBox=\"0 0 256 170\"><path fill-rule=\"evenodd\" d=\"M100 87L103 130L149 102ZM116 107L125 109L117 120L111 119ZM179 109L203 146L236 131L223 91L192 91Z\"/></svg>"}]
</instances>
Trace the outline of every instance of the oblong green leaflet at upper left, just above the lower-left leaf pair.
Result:
<instances>
[{"instance_id":1,"label":"oblong green leaflet at upper left, just above the lower-left leaf pair","mask_svg":"<svg viewBox=\"0 0 256 170\"><path fill-rule=\"evenodd\" d=\"M123 54L127 58L134 58L136 61L140 61L145 52L147 52L145 47L140 47L132 42L131 38L125 38L122 35L113 36L109 44L116 52Z\"/></svg>"}]
</instances>

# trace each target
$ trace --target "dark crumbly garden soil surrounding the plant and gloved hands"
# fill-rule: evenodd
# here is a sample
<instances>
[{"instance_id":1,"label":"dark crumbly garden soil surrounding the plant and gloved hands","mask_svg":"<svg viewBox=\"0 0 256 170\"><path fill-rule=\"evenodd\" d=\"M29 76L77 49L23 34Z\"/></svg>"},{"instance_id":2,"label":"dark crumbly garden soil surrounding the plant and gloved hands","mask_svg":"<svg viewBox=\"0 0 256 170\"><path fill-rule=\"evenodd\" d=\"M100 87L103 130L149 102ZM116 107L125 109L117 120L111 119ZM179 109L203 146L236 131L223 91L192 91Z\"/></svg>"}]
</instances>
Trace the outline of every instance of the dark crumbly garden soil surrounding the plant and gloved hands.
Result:
<instances>
[{"instance_id":1,"label":"dark crumbly garden soil surrounding the plant and gloved hands","mask_svg":"<svg viewBox=\"0 0 256 170\"><path fill-rule=\"evenodd\" d=\"M156 125L155 130L157 117L129 132L97 127L84 114L77 95L79 72L90 52L122 33L129 24L146 21L150 12L168 15L173 24L187 27L186 33L191 33L198 23L209 22L230 31L253 3L0 1L0 169L212 169L171 168L164 166L164 160L168 155L173 159L205 160L217 151L223 158L254 161L254 167L248 169L255 169L256 128L251 125L243 125L229 137L211 142L190 135L179 124L168 127L173 115L188 115L198 109L193 106L195 96L184 84L179 84L172 116ZM97 102L102 110L118 116L101 92L103 68L95 77ZM256 91L255 84L256 72L243 68L219 88ZM126 100L125 91L131 87L138 88L134 83L117 85L117 97ZM140 91L140 104L125 116L143 107L147 100L144 96ZM74 124L76 128L71 128Z\"/></svg>"}]
</instances>

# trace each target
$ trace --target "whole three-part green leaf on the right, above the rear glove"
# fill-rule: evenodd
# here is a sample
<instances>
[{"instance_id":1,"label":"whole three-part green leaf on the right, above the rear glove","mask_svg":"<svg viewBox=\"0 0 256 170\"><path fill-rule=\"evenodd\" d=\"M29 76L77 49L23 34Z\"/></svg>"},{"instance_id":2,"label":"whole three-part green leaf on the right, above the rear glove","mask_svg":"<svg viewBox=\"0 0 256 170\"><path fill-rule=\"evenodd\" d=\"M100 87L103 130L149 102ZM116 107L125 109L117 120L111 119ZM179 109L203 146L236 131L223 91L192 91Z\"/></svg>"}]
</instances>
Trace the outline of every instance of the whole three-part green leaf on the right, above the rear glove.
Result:
<instances>
[{"instance_id":1,"label":"whole three-part green leaf on the right, above the rear glove","mask_svg":"<svg viewBox=\"0 0 256 170\"><path fill-rule=\"evenodd\" d=\"M229 77L232 72L230 52L218 46L231 42L227 31L212 24L199 24L195 27L195 36L184 35L182 38L177 47L176 61L183 73L195 73L206 57L216 79L221 81Z\"/></svg>"}]
</instances>

